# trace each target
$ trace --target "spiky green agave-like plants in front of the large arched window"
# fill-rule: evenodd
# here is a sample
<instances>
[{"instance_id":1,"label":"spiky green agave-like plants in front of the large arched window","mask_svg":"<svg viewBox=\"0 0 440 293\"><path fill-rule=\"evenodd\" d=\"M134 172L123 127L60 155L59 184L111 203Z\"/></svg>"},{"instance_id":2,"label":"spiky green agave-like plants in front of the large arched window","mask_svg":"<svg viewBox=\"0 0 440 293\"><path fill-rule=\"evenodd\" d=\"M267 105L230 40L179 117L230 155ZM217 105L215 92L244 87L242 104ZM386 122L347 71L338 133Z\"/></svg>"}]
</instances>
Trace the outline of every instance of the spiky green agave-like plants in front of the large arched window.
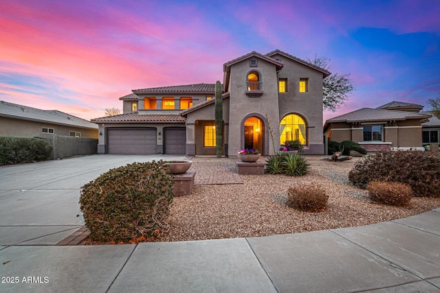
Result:
<instances>
[{"instance_id":1,"label":"spiky green agave-like plants in front of the large arched window","mask_svg":"<svg viewBox=\"0 0 440 293\"><path fill-rule=\"evenodd\" d=\"M303 176L308 172L309 164L304 156L281 152L270 156L266 162L265 172L270 174L286 174Z\"/></svg>"}]
</instances>

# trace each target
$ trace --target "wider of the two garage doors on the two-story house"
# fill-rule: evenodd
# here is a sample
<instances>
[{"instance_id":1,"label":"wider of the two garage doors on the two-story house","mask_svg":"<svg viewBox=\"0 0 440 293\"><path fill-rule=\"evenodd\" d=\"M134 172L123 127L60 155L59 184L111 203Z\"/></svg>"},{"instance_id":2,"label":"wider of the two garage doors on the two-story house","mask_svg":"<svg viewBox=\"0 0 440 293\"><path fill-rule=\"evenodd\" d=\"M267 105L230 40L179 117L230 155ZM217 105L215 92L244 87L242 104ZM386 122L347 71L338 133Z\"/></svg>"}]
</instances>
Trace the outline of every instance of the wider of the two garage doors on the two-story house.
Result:
<instances>
[{"instance_id":1,"label":"wider of the two garage doors on the two-story house","mask_svg":"<svg viewBox=\"0 0 440 293\"><path fill-rule=\"evenodd\" d=\"M109 154L155 154L156 128L109 128Z\"/></svg>"}]
</instances>

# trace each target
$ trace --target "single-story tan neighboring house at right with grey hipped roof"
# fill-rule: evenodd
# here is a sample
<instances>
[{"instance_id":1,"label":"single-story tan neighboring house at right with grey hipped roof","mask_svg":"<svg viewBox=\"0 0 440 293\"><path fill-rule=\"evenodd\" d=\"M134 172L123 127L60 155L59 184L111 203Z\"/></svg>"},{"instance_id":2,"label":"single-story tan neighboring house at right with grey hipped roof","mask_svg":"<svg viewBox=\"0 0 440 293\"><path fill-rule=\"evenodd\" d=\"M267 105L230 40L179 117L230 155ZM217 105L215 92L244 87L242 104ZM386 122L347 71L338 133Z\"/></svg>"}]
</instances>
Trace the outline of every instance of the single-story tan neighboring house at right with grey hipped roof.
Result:
<instances>
[{"instance_id":1,"label":"single-story tan neighboring house at right with grey hipped roof","mask_svg":"<svg viewBox=\"0 0 440 293\"><path fill-rule=\"evenodd\" d=\"M422 126L432 119L421 109L421 105L395 101L362 108L325 121L324 134L329 141L355 141L369 152L421 148Z\"/></svg>"}]
</instances>

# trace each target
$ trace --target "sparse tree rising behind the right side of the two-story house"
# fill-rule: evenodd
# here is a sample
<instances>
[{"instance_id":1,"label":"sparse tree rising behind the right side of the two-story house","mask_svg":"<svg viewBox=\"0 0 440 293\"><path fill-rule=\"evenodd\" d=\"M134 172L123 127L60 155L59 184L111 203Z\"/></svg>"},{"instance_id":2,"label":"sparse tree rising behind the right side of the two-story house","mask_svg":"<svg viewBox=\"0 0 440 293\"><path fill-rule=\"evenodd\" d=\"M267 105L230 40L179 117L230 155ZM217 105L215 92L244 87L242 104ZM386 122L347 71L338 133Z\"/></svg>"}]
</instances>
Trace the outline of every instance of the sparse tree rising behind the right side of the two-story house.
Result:
<instances>
[{"instance_id":1,"label":"sparse tree rising behind the right side of the two-story house","mask_svg":"<svg viewBox=\"0 0 440 293\"><path fill-rule=\"evenodd\" d=\"M307 61L330 71L330 59L327 57L314 56L313 59L307 58ZM345 104L349 99L349 95L355 90L353 81L350 79L350 73L331 73L331 75L327 76L322 82L322 103L324 110L335 112L336 109Z\"/></svg>"}]
</instances>

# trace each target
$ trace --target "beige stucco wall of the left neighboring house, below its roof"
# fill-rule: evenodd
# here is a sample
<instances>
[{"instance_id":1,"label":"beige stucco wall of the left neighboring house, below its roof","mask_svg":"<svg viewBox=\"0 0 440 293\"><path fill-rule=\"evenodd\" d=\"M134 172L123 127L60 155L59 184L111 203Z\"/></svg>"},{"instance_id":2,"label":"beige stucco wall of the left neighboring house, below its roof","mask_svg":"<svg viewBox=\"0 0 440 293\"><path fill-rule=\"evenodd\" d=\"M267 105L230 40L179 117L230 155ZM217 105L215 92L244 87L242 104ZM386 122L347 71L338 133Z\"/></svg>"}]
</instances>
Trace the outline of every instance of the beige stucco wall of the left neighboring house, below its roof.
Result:
<instances>
[{"instance_id":1,"label":"beige stucco wall of the left neighboring house, below its roof","mask_svg":"<svg viewBox=\"0 0 440 293\"><path fill-rule=\"evenodd\" d=\"M52 134L41 132L41 128L53 128L54 134L70 136L70 132L81 132L83 138L98 138L98 129L80 128L77 126L67 126L52 124L41 121L30 121L0 117L0 136L1 137L52 137Z\"/></svg>"}]
</instances>

